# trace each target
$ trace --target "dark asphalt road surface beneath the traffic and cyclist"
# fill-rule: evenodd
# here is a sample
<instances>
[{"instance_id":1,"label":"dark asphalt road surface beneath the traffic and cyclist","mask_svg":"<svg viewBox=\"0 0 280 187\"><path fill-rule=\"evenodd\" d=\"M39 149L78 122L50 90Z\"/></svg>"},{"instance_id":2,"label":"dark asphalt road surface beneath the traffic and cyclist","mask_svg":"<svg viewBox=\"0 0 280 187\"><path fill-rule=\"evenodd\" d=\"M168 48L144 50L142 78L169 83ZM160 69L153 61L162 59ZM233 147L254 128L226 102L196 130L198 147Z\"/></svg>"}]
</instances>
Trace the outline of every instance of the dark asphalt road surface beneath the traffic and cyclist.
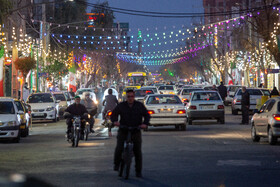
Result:
<instances>
[{"instance_id":1,"label":"dark asphalt road surface beneath the traffic and cyclist","mask_svg":"<svg viewBox=\"0 0 280 187\"><path fill-rule=\"evenodd\" d=\"M55 186L279 186L280 144L253 143L250 126L227 108L226 124L194 122L143 132L143 178L124 180L113 171L113 137L97 121L89 141L72 148L65 121L34 123L21 143L0 143L0 175L22 173Z\"/></svg>"}]
</instances>

